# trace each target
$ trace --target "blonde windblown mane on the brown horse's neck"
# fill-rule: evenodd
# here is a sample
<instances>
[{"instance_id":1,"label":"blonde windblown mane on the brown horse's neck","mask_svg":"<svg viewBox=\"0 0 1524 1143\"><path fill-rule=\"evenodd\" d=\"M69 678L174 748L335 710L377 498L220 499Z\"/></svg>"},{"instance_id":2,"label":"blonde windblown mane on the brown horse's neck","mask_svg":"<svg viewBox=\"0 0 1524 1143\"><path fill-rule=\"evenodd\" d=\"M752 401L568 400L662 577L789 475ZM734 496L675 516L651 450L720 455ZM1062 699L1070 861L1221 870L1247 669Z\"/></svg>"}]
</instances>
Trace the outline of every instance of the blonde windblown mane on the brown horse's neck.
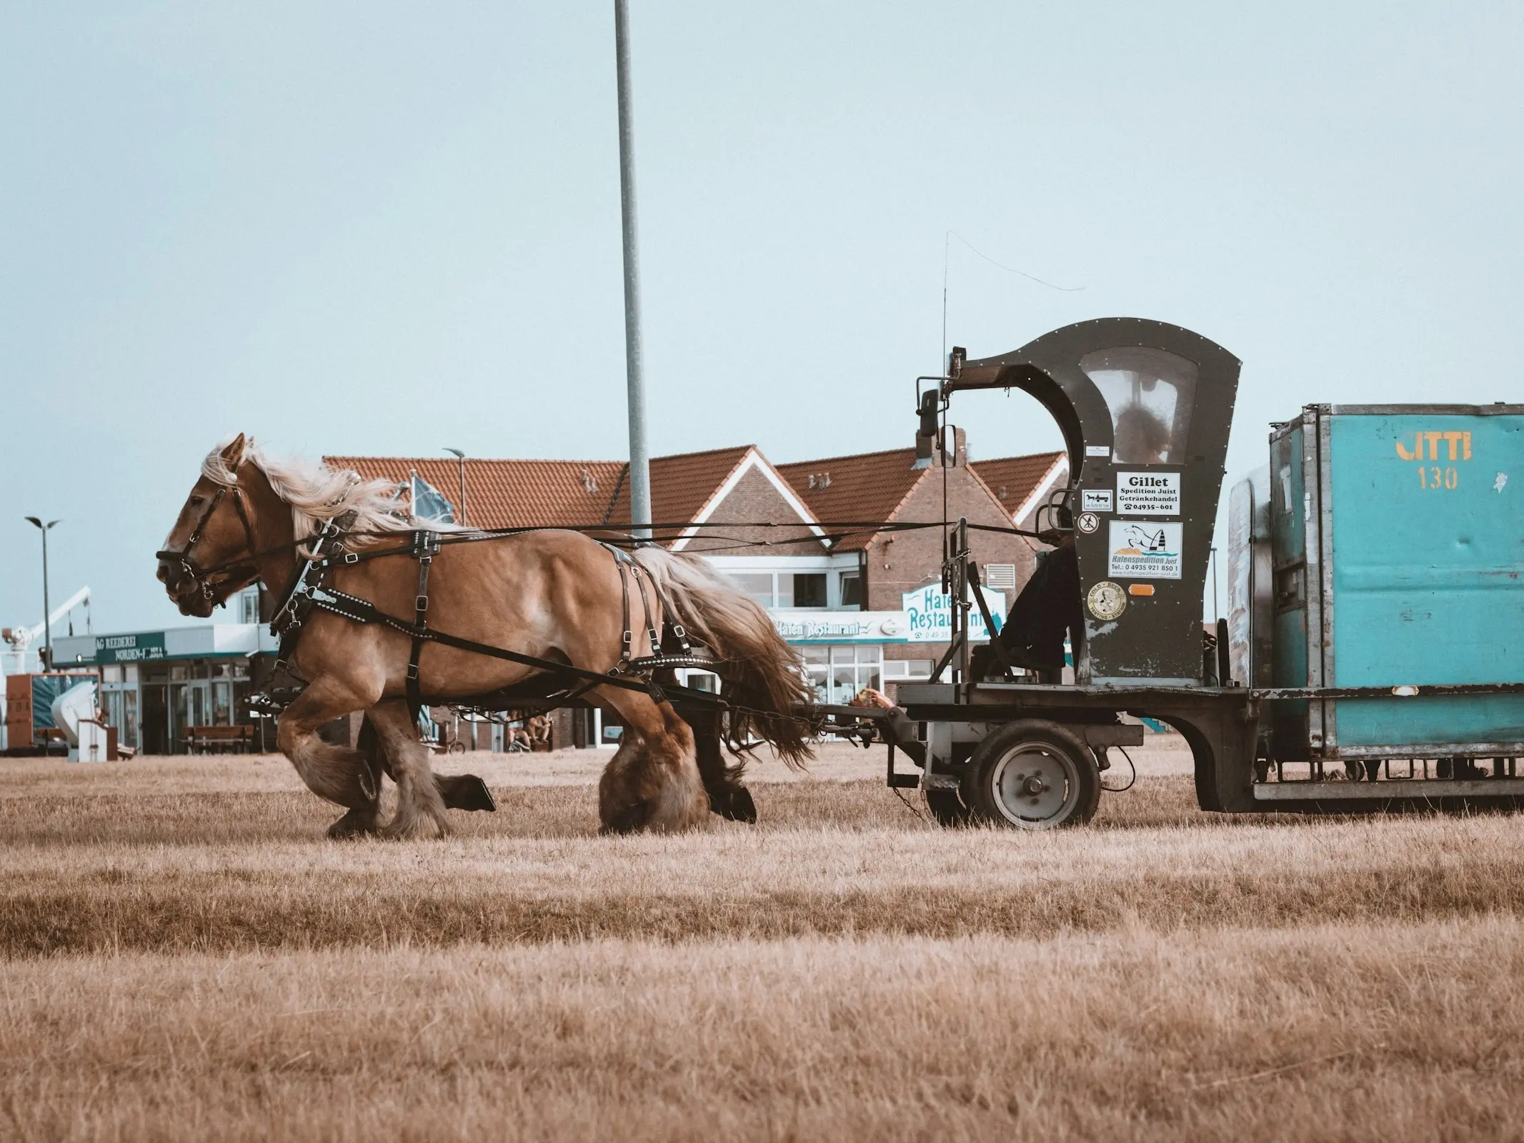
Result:
<instances>
[{"instance_id":1,"label":"blonde windblown mane on the brown horse's neck","mask_svg":"<svg viewBox=\"0 0 1524 1143\"><path fill-rule=\"evenodd\" d=\"M206 454L206 460L201 462L201 475L227 488L238 485L238 474L230 471L223 459L223 450L235 439L227 437ZM264 472L274 494L291 506L291 526L297 539L311 538L325 521L346 512L355 514L351 530L360 533L349 541L349 547L376 543L379 535L373 533L411 532L415 529L459 530L456 524L415 517L408 511L408 504L398 497L398 486L389 480L364 480L349 468L335 472L320 460L308 460L306 457L276 457L256 443L253 437L244 443L244 460ZM366 533L372 535L367 538Z\"/></svg>"}]
</instances>

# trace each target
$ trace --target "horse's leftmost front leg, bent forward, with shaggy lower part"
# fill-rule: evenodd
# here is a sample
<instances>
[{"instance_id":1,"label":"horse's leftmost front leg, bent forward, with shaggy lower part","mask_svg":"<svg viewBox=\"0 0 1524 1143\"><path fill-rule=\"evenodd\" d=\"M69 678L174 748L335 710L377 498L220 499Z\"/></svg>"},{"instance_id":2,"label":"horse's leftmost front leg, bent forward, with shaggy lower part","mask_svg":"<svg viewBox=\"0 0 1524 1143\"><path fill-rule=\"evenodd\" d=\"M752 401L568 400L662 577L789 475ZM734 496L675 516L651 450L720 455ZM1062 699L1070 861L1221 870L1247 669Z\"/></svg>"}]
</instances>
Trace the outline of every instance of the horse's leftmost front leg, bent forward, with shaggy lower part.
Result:
<instances>
[{"instance_id":1,"label":"horse's leftmost front leg, bent forward, with shaggy lower part","mask_svg":"<svg viewBox=\"0 0 1524 1143\"><path fill-rule=\"evenodd\" d=\"M346 683L320 678L280 715L276 735L280 753L291 759L308 789L349 809L329 828L329 837L375 832L381 783L361 751L325 742L317 728L372 701Z\"/></svg>"}]
</instances>

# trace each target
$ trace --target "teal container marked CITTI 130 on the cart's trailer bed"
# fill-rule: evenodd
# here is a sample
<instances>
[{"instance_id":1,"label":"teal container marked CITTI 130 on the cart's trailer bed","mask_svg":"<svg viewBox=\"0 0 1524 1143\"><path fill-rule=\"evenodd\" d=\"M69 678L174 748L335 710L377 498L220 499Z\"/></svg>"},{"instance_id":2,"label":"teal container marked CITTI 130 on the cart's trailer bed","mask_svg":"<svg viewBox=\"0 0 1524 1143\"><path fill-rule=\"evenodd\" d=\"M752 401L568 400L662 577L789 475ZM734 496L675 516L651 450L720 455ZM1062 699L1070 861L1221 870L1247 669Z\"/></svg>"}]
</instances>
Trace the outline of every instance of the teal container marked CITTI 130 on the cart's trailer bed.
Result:
<instances>
[{"instance_id":1,"label":"teal container marked CITTI 130 on the cart's trailer bed","mask_svg":"<svg viewBox=\"0 0 1524 1143\"><path fill-rule=\"evenodd\" d=\"M1253 681L1393 692L1276 703L1271 753L1524 756L1524 695L1422 693L1524 683L1524 405L1309 405L1268 483Z\"/></svg>"}]
</instances>

